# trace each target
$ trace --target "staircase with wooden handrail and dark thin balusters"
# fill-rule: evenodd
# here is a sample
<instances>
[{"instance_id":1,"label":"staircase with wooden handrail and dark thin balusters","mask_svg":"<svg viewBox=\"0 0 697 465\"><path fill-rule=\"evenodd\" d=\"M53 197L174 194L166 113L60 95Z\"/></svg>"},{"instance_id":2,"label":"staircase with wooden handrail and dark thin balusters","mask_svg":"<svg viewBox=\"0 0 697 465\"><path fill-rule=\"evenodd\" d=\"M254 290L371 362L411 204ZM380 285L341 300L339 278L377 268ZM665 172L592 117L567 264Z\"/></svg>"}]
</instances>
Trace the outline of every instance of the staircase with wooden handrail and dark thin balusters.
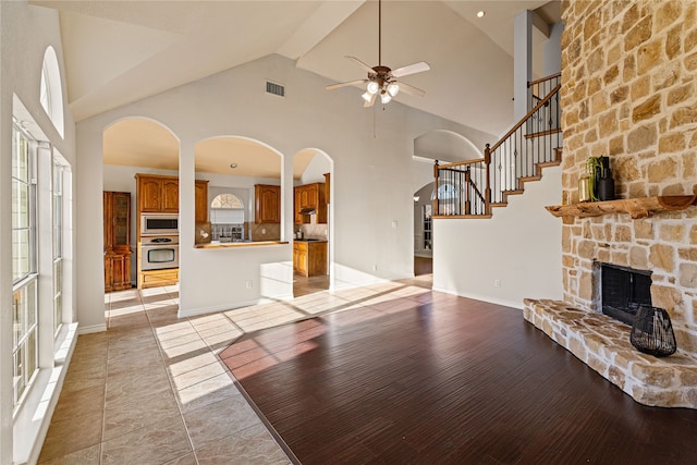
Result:
<instances>
[{"instance_id":1,"label":"staircase with wooden handrail and dark thin balusters","mask_svg":"<svg viewBox=\"0 0 697 465\"><path fill-rule=\"evenodd\" d=\"M559 89L561 74L528 83L531 110L484 157L433 167L438 218L491 218L491 209L505 207L509 196L539 181L542 170L561 163L562 132Z\"/></svg>"}]
</instances>

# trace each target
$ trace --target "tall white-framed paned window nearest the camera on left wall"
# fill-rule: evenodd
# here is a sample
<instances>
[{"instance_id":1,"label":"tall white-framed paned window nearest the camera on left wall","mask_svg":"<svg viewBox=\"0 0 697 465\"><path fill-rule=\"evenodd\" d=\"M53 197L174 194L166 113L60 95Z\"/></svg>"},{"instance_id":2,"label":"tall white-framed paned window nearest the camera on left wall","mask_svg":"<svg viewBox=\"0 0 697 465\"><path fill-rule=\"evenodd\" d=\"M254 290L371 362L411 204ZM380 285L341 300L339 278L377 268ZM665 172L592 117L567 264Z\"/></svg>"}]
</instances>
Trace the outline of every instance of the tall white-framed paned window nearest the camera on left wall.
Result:
<instances>
[{"instance_id":1,"label":"tall white-framed paned window nearest the camera on left wall","mask_svg":"<svg viewBox=\"0 0 697 465\"><path fill-rule=\"evenodd\" d=\"M13 405L38 371L35 146L12 125L12 359Z\"/></svg>"}]
</instances>

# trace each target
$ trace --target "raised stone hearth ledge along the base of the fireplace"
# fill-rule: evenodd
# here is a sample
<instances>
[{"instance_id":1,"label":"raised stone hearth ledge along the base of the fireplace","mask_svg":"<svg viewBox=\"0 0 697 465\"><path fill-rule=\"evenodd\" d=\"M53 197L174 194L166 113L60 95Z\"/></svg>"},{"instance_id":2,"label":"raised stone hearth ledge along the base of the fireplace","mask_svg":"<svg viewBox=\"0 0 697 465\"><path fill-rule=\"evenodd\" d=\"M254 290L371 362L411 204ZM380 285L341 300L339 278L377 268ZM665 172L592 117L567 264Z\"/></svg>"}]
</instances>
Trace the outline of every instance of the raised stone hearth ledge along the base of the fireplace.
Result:
<instances>
[{"instance_id":1,"label":"raised stone hearth ledge along the base of the fireplace","mask_svg":"<svg viewBox=\"0 0 697 465\"><path fill-rule=\"evenodd\" d=\"M525 299L525 319L645 405L697 408L697 360L680 352L657 358L629 343L629 329L559 301Z\"/></svg>"}]
</instances>

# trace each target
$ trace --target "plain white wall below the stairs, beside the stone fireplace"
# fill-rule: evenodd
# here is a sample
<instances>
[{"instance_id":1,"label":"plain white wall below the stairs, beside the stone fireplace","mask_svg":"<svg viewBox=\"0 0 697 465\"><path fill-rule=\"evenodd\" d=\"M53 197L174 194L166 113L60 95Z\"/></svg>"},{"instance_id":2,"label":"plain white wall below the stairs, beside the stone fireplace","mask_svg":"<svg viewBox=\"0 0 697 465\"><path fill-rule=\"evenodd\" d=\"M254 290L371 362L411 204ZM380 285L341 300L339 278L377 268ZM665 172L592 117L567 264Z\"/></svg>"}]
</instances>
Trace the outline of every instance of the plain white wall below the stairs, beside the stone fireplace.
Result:
<instances>
[{"instance_id":1,"label":"plain white wall below the stairs, beside the stone fireplace","mask_svg":"<svg viewBox=\"0 0 697 465\"><path fill-rule=\"evenodd\" d=\"M561 168L546 168L490 220L436 219L433 289L515 308L526 297L561 299L562 222L545 209L560 199Z\"/></svg>"}]
</instances>

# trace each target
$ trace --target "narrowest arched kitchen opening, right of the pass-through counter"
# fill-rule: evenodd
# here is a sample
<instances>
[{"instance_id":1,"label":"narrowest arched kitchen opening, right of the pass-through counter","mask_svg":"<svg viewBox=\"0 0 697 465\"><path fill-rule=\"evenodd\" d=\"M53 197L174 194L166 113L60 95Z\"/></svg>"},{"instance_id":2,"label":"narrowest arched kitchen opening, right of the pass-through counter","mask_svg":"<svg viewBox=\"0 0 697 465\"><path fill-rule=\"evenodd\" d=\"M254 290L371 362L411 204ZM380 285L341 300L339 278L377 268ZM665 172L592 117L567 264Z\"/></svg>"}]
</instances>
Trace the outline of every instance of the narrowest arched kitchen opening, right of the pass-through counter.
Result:
<instances>
[{"instance_id":1,"label":"narrowest arched kitchen opening, right of the pass-through counter","mask_svg":"<svg viewBox=\"0 0 697 465\"><path fill-rule=\"evenodd\" d=\"M335 203L333 161L323 151L306 148L293 157L293 295L331 287Z\"/></svg>"}]
</instances>

